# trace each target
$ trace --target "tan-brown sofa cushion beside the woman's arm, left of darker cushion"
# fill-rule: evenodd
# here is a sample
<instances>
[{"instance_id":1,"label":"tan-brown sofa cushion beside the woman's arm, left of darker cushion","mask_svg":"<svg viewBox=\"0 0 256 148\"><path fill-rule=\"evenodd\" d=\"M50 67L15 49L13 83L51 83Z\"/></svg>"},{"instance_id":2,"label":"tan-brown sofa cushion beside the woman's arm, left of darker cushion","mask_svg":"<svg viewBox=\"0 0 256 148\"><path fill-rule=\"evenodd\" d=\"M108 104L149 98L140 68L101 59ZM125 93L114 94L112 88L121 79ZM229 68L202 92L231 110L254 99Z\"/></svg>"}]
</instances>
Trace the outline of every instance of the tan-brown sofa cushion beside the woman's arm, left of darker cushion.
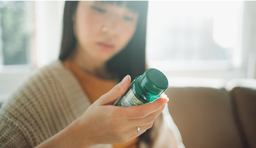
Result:
<instances>
[{"instance_id":1,"label":"tan-brown sofa cushion beside the woman's arm, left of darker cushion","mask_svg":"<svg viewBox=\"0 0 256 148\"><path fill-rule=\"evenodd\" d=\"M224 88L169 87L165 94L186 148L242 147Z\"/></svg>"}]
</instances>

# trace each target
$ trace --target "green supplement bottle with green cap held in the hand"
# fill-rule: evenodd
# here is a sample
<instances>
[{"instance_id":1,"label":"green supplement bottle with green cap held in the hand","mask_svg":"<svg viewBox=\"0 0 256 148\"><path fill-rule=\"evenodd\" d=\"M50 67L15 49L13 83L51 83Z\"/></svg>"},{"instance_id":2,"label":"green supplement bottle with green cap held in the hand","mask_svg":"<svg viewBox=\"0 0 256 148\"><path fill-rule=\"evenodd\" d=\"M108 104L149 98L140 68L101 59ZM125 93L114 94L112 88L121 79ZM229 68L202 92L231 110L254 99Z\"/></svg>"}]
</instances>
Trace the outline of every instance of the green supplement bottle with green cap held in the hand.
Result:
<instances>
[{"instance_id":1,"label":"green supplement bottle with green cap held in the hand","mask_svg":"<svg viewBox=\"0 0 256 148\"><path fill-rule=\"evenodd\" d=\"M127 91L114 105L129 107L152 102L160 98L167 87L167 77L161 71L149 68L132 81Z\"/></svg>"}]
</instances>

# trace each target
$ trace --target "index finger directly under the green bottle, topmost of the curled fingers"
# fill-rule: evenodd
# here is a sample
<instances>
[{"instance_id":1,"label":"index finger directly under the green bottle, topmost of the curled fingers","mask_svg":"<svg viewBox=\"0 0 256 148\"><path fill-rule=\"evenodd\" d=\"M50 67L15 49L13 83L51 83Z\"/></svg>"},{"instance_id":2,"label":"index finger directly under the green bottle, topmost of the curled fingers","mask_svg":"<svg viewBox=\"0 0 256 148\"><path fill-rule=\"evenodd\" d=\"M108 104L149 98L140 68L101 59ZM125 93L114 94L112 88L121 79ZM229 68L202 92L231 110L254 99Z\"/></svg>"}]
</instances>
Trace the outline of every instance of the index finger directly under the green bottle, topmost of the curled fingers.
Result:
<instances>
[{"instance_id":1,"label":"index finger directly under the green bottle, topmost of the curled fingers","mask_svg":"<svg viewBox=\"0 0 256 148\"><path fill-rule=\"evenodd\" d=\"M149 102L139 106L131 106L124 108L124 113L128 119L144 118L149 114L159 110L169 101L168 97L162 96L153 102Z\"/></svg>"}]
</instances>

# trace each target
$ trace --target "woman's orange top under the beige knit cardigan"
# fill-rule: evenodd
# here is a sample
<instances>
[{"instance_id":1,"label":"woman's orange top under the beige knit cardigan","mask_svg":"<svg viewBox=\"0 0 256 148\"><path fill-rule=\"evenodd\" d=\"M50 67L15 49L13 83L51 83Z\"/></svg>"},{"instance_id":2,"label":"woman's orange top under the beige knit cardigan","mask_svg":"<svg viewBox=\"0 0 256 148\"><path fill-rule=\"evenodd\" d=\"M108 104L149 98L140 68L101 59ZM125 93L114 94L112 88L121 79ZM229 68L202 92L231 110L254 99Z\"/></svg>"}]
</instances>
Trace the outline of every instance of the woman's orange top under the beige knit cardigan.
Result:
<instances>
[{"instance_id":1,"label":"woman's orange top under the beige knit cardigan","mask_svg":"<svg viewBox=\"0 0 256 148\"><path fill-rule=\"evenodd\" d=\"M75 65L71 60L66 59L63 64L75 75L83 91L87 94L91 103L96 101L100 96L110 91L116 84L117 80L107 80L96 77L92 74L83 71L80 67ZM113 144L114 148L138 148L139 137L124 143Z\"/></svg>"}]
</instances>

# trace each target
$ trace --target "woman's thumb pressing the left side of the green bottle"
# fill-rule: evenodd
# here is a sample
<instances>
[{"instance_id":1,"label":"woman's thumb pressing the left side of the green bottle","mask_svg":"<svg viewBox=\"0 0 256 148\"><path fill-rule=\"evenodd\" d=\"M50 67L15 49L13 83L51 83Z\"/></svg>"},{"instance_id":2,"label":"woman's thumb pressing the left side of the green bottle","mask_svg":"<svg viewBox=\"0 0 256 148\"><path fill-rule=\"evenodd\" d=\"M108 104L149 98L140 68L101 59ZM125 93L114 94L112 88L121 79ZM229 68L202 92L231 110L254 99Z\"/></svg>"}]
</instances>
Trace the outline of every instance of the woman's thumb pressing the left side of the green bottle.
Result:
<instances>
[{"instance_id":1,"label":"woman's thumb pressing the left side of the green bottle","mask_svg":"<svg viewBox=\"0 0 256 148\"><path fill-rule=\"evenodd\" d=\"M129 75L125 76L123 80L114 86L109 92L105 93L99 98L101 105L112 105L114 102L120 98L125 91L129 88L131 83L131 77Z\"/></svg>"}]
</instances>

